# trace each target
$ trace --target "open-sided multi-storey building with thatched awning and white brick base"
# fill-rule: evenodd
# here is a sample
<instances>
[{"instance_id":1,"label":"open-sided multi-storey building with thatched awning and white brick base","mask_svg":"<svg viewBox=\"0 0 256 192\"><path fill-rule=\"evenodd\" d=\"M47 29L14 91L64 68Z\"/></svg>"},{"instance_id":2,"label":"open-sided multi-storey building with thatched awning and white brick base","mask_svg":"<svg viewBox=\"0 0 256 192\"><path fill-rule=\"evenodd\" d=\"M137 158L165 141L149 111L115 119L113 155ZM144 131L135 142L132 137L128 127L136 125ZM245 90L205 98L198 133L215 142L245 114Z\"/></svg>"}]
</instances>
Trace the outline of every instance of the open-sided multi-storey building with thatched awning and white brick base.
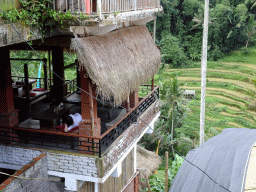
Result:
<instances>
[{"instance_id":1,"label":"open-sided multi-storey building with thatched awning and white brick base","mask_svg":"<svg viewBox=\"0 0 256 192\"><path fill-rule=\"evenodd\" d=\"M49 6L89 17L76 26L56 27L44 41L36 29L0 25L0 168L17 170L45 153L49 178L63 178L65 190L138 191L136 143L159 116L153 77L160 52L145 24L154 20L155 27L163 11L160 2L54 0ZM24 77L12 76L11 63L17 58L10 58L10 51L31 50L25 39L52 58L38 58L44 59L44 78L30 77L26 64ZM70 66L64 67L63 51L70 49L78 55L70 65L77 66L77 78L66 81L64 70ZM43 87L35 90L38 79ZM61 119L72 111L83 120L73 132L63 133ZM4 154L6 150L10 152ZM25 160L5 159L15 155Z\"/></svg>"}]
</instances>

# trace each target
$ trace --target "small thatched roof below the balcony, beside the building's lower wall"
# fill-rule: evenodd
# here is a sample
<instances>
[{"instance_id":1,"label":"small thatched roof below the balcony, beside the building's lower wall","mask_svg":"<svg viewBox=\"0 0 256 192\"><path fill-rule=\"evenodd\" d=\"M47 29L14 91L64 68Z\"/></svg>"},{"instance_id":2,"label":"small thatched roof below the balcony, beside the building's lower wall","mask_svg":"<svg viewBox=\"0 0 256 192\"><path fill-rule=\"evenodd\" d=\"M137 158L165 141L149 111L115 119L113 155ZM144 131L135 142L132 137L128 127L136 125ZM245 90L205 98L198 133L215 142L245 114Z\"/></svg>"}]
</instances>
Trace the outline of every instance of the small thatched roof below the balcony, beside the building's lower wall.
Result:
<instances>
[{"instance_id":1,"label":"small thatched roof below the balcony, beside the building's lower wall","mask_svg":"<svg viewBox=\"0 0 256 192\"><path fill-rule=\"evenodd\" d=\"M159 168L159 165L162 163L161 157L152 151L137 145L137 169L140 170L141 178L149 178L155 170ZM142 188L145 188L147 185L145 181L140 181Z\"/></svg>"}]
</instances>

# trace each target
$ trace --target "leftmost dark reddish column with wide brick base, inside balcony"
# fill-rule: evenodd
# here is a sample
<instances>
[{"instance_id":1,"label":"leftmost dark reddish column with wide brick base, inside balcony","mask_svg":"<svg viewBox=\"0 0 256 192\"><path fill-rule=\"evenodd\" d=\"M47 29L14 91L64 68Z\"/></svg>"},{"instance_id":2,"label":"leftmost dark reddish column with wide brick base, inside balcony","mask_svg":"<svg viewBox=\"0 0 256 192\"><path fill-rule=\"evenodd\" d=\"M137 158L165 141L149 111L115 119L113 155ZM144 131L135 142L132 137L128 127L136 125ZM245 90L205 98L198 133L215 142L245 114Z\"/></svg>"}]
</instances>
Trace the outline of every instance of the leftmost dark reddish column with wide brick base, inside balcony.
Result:
<instances>
[{"instance_id":1,"label":"leftmost dark reddish column with wide brick base, inside balcony","mask_svg":"<svg viewBox=\"0 0 256 192\"><path fill-rule=\"evenodd\" d=\"M0 126L17 126L19 119L18 111L14 109L10 51L3 47L0 52Z\"/></svg>"}]
</instances>

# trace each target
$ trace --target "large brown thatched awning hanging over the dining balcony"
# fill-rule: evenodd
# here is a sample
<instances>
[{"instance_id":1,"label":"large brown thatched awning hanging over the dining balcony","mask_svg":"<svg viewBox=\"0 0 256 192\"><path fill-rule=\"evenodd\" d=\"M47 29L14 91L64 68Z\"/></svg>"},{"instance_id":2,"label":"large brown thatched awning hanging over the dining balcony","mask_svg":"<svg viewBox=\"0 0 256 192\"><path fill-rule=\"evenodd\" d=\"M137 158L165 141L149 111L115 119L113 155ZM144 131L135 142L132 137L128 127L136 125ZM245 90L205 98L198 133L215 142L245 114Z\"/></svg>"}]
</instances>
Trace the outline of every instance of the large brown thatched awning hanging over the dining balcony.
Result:
<instances>
[{"instance_id":1,"label":"large brown thatched awning hanging over the dining balcony","mask_svg":"<svg viewBox=\"0 0 256 192\"><path fill-rule=\"evenodd\" d=\"M147 83L158 72L161 62L160 51L146 26L75 38L71 49L97 84L97 92L104 99L113 97L117 105Z\"/></svg>"}]
</instances>

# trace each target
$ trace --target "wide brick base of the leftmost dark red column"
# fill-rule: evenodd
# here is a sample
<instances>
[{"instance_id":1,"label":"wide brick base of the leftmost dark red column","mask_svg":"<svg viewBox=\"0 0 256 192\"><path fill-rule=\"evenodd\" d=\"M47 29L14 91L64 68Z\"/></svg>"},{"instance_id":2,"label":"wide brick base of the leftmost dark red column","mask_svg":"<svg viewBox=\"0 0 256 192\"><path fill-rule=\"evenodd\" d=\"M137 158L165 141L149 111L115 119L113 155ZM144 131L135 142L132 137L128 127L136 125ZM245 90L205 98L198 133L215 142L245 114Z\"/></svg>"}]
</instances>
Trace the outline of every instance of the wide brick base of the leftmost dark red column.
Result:
<instances>
[{"instance_id":1,"label":"wide brick base of the leftmost dark red column","mask_svg":"<svg viewBox=\"0 0 256 192\"><path fill-rule=\"evenodd\" d=\"M19 125L18 110L0 112L0 126L15 127Z\"/></svg>"}]
</instances>

